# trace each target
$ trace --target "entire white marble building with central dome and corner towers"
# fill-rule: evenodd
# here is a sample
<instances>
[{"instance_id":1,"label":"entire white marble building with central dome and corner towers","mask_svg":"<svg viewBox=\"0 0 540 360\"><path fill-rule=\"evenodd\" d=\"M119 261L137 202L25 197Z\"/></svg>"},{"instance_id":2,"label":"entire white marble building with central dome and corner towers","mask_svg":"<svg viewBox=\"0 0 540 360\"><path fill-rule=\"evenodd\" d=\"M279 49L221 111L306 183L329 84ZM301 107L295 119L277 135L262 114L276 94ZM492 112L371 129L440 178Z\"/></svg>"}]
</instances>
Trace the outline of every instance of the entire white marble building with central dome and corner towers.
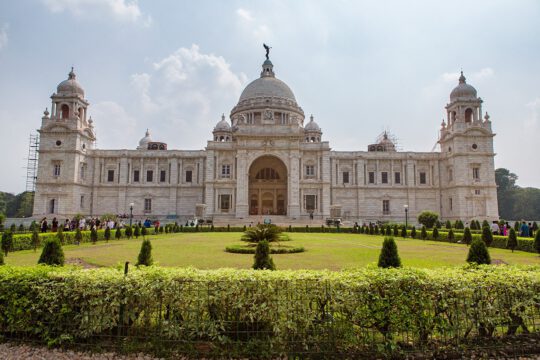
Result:
<instances>
[{"instance_id":1,"label":"entire white marble building with central dome and corner towers","mask_svg":"<svg viewBox=\"0 0 540 360\"><path fill-rule=\"evenodd\" d=\"M36 217L129 214L133 203L137 217L178 221L245 223L271 215L298 222L310 214L403 221L404 205L411 218L422 210L444 220L498 218L494 134L463 74L436 152L396 151L387 136L367 151L332 151L270 60L204 150L167 149L148 131L134 149L96 149L73 70L51 98L39 130Z\"/></svg>"}]
</instances>

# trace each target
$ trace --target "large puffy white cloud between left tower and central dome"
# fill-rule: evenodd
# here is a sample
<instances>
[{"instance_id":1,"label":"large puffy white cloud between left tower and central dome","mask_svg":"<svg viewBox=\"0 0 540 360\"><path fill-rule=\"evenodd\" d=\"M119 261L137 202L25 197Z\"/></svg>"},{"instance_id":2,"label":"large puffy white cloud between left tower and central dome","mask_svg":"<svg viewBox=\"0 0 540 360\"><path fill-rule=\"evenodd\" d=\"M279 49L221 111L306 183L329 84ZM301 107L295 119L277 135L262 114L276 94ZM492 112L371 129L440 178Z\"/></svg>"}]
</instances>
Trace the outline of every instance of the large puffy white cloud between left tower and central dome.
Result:
<instances>
[{"instance_id":1,"label":"large puffy white cloud between left tower and central dome","mask_svg":"<svg viewBox=\"0 0 540 360\"><path fill-rule=\"evenodd\" d=\"M234 73L222 56L202 53L198 45L182 47L131 76L139 131L150 128L170 148L201 148L245 83L246 76Z\"/></svg>"}]
</instances>

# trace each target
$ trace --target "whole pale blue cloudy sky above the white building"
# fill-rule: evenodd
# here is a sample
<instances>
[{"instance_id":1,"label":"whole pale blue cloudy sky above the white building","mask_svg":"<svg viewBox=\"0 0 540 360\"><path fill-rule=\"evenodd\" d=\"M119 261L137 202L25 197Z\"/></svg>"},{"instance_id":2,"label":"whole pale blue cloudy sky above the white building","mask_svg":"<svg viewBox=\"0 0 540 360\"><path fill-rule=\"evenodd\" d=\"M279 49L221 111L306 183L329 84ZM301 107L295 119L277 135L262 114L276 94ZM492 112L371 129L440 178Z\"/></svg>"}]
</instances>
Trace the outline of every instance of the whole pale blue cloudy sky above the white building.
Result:
<instances>
[{"instance_id":1,"label":"whole pale blue cloudy sky above the white building","mask_svg":"<svg viewBox=\"0 0 540 360\"><path fill-rule=\"evenodd\" d=\"M460 70L492 121L495 167L540 187L540 2L0 2L0 191L25 190L28 140L73 66L97 148L204 149L221 114L276 77L333 150L365 151L387 130L432 151Z\"/></svg>"}]
</instances>

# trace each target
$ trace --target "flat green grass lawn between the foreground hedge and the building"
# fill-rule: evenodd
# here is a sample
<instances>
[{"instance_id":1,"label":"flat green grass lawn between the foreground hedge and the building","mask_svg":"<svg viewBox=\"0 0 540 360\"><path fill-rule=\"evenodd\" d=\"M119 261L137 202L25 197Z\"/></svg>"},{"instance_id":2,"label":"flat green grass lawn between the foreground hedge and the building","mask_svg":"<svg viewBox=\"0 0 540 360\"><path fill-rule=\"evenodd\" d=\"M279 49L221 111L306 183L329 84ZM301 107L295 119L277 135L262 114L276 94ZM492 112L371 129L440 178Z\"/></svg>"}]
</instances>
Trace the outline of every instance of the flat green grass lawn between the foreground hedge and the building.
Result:
<instances>
[{"instance_id":1,"label":"flat green grass lawn between the foreground hedge and the building","mask_svg":"<svg viewBox=\"0 0 540 360\"><path fill-rule=\"evenodd\" d=\"M230 254L227 245L245 244L241 233L177 233L150 236L154 262L162 266L193 266L200 269L222 267L249 268L253 255ZM299 254L272 255L278 269L330 269L340 270L376 263L382 245L382 236L360 234L289 234L292 244L304 246ZM435 241L396 238L404 266L434 268L463 265L468 247ZM83 244L64 247L66 259L79 258L97 266L115 266L125 261L135 263L141 246L138 240L111 240L96 245ZM538 254L510 250L489 249L492 260L508 264L540 265ZM18 251L5 258L7 264L33 265L40 250Z\"/></svg>"}]
</instances>

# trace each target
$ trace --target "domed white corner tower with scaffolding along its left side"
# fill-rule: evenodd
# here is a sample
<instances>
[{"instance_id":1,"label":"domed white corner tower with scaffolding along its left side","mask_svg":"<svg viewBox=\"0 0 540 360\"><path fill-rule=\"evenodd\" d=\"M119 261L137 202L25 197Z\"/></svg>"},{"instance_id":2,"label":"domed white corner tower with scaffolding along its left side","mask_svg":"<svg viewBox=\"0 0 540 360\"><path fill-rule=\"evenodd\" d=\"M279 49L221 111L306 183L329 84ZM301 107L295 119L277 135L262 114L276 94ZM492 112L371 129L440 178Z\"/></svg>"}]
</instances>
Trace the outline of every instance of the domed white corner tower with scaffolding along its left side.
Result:
<instances>
[{"instance_id":1,"label":"domed white corner tower with scaffolding along its left side","mask_svg":"<svg viewBox=\"0 0 540 360\"><path fill-rule=\"evenodd\" d=\"M88 153L96 140L89 103L73 68L42 117L34 216L71 217L90 211Z\"/></svg>"}]
</instances>

